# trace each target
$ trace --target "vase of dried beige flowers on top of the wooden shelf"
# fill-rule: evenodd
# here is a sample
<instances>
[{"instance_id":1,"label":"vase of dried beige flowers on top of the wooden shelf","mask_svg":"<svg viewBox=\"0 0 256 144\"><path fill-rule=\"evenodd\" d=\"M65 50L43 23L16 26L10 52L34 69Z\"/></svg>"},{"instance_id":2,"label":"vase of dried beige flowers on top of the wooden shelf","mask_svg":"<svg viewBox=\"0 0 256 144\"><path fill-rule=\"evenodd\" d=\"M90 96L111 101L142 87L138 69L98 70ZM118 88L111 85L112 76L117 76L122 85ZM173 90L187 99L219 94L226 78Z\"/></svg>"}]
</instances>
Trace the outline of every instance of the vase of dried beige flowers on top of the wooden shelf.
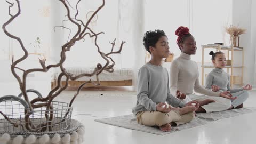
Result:
<instances>
[{"instance_id":1,"label":"vase of dried beige flowers on top of the wooden shelf","mask_svg":"<svg viewBox=\"0 0 256 144\"><path fill-rule=\"evenodd\" d=\"M230 35L230 44L233 44L235 47L239 47L240 37L239 35L245 34L246 29L239 28L236 26L226 27L226 32Z\"/></svg>"}]
</instances>

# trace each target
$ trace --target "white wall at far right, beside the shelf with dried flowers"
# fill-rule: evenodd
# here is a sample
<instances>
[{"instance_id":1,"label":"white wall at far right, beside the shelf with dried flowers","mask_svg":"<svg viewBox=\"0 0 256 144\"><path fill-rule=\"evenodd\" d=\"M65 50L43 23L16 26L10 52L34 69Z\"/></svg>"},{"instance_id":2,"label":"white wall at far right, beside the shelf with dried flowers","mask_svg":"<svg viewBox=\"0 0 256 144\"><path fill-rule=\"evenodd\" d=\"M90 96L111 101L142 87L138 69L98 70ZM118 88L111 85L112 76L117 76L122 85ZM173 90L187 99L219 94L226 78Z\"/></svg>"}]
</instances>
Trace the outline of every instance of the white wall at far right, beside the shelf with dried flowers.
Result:
<instances>
[{"instance_id":1,"label":"white wall at far right, beside the shelf with dried flowers","mask_svg":"<svg viewBox=\"0 0 256 144\"><path fill-rule=\"evenodd\" d=\"M240 45L244 47L244 83L253 84L255 74L255 2L251 0L233 0L232 24L247 29L240 36ZM254 14L253 14L254 12Z\"/></svg>"}]
</instances>

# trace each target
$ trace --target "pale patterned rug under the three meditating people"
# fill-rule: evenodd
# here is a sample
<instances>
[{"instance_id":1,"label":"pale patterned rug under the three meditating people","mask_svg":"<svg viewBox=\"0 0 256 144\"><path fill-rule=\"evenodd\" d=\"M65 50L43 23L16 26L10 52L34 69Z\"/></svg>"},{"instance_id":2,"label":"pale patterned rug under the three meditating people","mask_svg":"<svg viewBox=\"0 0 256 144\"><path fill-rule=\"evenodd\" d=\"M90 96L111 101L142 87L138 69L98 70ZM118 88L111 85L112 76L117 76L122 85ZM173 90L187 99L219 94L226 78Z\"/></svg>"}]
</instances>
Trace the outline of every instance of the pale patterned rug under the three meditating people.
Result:
<instances>
[{"instance_id":1,"label":"pale patterned rug under the three meditating people","mask_svg":"<svg viewBox=\"0 0 256 144\"><path fill-rule=\"evenodd\" d=\"M215 113L197 114L195 119L193 119L191 122L177 126L177 127L173 127L173 129L170 132L163 132L163 131L159 130L157 127L150 127L150 126L138 124L136 121L136 118L133 115L124 115L124 116L118 116L118 117L95 119L94 121L100 122L100 123L105 123L105 124L110 124L110 125L115 125L115 126L120 126L120 127L125 127L127 129L138 130L138 131L142 131L142 132L154 133L154 134L158 134L158 135L165 135L165 134L172 133L176 130L189 129L189 128L196 127L199 125L217 121L218 119L248 114L248 113L252 113L255 111L256 111L256 108L245 107L245 108L241 108L241 109L219 111L219 112L215 112Z\"/></svg>"}]
</instances>

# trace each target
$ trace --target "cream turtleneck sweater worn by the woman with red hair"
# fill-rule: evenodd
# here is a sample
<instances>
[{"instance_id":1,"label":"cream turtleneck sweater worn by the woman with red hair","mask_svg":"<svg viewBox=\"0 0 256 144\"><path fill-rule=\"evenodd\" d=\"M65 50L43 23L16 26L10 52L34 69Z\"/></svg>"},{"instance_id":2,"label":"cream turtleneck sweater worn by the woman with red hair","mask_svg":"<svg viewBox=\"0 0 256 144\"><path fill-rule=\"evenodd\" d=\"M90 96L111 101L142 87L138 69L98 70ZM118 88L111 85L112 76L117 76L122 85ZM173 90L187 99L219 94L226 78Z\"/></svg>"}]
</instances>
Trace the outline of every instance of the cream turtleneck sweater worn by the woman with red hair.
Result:
<instances>
[{"instance_id":1,"label":"cream turtleneck sweater worn by the woman with red hair","mask_svg":"<svg viewBox=\"0 0 256 144\"><path fill-rule=\"evenodd\" d=\"M201 86L198 77L199 71L197 63L191 60L191 55L181 52L180 57L175 59L171 64L171 94L176 95L176 91L179 90L186 94L193 94L195 91L209 96L218 97L220 95L220 92L213 92Z\"/></svg>"}]
</instances>

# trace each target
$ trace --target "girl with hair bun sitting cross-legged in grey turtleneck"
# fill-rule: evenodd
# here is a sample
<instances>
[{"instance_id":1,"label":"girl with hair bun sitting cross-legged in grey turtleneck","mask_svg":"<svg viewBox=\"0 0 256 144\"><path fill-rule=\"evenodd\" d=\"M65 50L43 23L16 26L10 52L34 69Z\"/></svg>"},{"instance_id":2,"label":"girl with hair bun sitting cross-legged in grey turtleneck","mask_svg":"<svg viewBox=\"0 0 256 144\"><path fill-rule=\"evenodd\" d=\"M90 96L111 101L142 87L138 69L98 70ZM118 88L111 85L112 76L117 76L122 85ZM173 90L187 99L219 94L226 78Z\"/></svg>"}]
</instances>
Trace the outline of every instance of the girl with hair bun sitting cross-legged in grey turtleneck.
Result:
<instances>
[{"instance_id":1,"label":"girl with hair bun sitting cross-legged in grey turtleneck","mask_svg":"<svg viewBox=\"0 0 256 144\"><path fill-rule=\"evenodd\" d=\"M247 84L241 89L230 89L230 76L228 73L223 71L223 68L227 65L225 54L221 51L209 53L212 55L212 63L214 69L207 75L205 88L217 91L230 91L231 97L237 97L235 100L231 100L231 107L242 108L243 102L249 97L247 90L251 90L252 86Z\"/></svg>"}]
</instances>

